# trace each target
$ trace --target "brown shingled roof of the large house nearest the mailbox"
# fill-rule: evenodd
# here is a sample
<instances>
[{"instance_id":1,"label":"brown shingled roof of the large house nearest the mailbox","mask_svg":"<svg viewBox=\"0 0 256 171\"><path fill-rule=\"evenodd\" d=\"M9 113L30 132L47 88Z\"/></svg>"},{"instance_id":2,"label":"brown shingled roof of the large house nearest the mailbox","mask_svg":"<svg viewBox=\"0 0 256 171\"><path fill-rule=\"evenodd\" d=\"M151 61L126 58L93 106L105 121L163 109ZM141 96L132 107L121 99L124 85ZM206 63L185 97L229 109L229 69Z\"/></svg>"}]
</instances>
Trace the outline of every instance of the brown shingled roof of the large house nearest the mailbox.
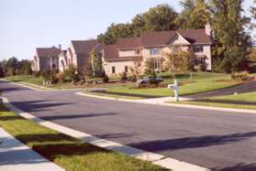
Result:
<instances>
[{"instance_id":1,"label":"brown shingled roof of the large house nearest the mailbox","mask_svg":"<svg viewBox=\"0 0 256 171\"><path fill-rule=\"evenodd\" d=\"M161 32L144 32L140 37L118 38L117 44L106 45L106 60L139 59L140 57L119 57L119 48L141 48L169 45L177 34L184 37L191 44L211 44L211 39L206 35L205 29L171 30ZM142 57L141 57L142 58Z\"/></svg>"}]
</instances>

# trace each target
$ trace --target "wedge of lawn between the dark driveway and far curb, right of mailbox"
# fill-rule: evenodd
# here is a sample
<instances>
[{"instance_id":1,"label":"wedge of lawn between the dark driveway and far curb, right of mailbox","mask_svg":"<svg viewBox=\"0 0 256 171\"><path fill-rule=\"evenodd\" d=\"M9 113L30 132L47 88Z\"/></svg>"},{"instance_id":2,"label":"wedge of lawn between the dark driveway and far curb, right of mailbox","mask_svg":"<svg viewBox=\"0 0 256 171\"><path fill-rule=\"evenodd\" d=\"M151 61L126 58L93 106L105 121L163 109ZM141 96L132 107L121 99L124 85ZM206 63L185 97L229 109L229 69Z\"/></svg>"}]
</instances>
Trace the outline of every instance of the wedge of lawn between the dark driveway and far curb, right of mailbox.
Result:
<instances>
[{"instance_id":1,"label":"wedge of lawn between the dark driveway and far curb, right of mailbox","mask_svg":"<svg viewBox=\"0 0 256 171\"><path fill-rule=\"evenodd\" d=\"M256 110L256 91L178 103Z\"/></svg>"}]
</instances>

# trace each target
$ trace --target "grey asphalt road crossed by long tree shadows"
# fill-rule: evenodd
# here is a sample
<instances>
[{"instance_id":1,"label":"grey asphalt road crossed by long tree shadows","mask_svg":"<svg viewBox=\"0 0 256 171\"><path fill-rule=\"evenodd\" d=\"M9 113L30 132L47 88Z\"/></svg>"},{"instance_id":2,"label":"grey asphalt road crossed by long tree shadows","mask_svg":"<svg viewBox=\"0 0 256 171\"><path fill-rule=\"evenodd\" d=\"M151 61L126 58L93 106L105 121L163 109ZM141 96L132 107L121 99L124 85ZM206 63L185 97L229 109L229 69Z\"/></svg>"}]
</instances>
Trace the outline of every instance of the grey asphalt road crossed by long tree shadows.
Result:
<instances>
[{"instance_id":1,"label":"grey asphalt road crossed by long tree shadows","mask_svg":"<svg viewBox=\"0 0 256 171\"><path fill-rule=\"evenodd\" d=\"M0 81L0 91L39 118L214 170L256 170L256 115L86 98Z\"/></svg>"}]
</instances>

